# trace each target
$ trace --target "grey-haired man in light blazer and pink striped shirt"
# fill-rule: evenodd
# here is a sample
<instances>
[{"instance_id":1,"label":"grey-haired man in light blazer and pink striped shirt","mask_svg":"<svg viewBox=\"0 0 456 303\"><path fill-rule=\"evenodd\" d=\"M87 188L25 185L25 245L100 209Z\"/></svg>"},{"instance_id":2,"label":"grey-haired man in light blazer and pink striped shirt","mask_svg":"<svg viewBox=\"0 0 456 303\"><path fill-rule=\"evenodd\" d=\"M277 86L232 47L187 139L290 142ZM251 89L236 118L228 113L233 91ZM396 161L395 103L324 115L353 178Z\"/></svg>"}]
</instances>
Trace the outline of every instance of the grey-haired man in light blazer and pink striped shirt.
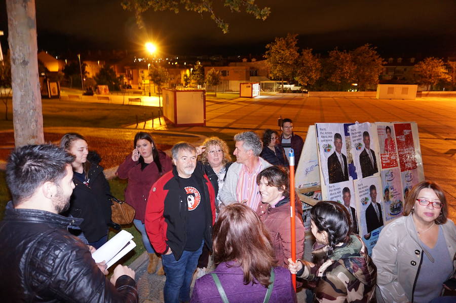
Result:
<instances>
[{"instance_id":1,"label":"grey-haired man in light blazer and pink striped shirt","mask_svg":"<svg viewBox=\"0 0 456 303\"><path fill-rule=\"evenodd\" d=\"M261 202L256 176L271 164L259 157L261 141L254 132L239 133L234 137L236 163L226 172L225 183L220 191L223 205L236 202L246 204L256 211Z\"/></svg>"}]
</instances>

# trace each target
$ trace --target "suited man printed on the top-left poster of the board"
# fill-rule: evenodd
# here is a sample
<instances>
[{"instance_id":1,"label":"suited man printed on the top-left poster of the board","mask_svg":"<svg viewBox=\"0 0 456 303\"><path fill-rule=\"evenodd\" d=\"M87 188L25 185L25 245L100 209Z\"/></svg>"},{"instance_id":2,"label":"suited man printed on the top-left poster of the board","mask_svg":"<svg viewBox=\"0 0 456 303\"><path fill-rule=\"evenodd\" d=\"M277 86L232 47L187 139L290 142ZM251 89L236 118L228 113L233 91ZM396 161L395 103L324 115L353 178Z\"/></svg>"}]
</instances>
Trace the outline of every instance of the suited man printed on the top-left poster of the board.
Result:
<instances>
[{"instance_id":1,"label":"suited man printed on the top-left poster of the board","mask_svg":"<svg viewBox=\"0 0 456 303\"><path fill-rule=\"evenodd\" d=\"M335 151L328 157L329 183L348 181L347 157L342 154L342 136L334 134Z\"/></svg>"}]
</instances>

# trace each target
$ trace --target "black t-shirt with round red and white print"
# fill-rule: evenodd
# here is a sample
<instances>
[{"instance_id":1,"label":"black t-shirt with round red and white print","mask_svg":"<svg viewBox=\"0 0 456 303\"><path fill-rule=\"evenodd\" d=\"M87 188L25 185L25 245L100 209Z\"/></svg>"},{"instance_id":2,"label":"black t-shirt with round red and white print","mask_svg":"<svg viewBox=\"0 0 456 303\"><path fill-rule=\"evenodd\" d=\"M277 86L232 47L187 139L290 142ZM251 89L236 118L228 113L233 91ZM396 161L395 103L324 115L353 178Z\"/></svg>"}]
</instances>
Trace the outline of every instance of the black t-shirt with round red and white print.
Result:
<instances>
[{"instance_id":1,"label":"black t-shirt with round red and white print","mask_svg":"<svg viewBox=\"0 0 456 303\"><path fill-rule=\"evenodd\" d=\"M179 177L180 178L180 177ZM187 193L186 197L182 197L184 202L187 202L187 242L184 250L196 251L200 248L203 242L204 230L206 227L206 215L204 211L204 192L200 188L195 177L184 179L180 178L180 184L184 187Z\"/></svg>"}]
</instances>

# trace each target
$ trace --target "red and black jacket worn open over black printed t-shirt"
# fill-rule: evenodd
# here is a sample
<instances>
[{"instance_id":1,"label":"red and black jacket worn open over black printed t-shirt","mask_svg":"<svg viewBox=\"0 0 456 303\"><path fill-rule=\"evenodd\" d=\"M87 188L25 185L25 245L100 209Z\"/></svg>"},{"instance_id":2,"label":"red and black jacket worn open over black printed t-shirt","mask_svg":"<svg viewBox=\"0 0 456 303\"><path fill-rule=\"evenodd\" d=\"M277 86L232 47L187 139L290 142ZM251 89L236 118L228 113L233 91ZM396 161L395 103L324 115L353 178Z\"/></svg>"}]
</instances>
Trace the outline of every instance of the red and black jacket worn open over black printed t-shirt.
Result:
<instances>
[{"instance_id":1,"label":"red and black jacket worn open over black printed t-shirt","mask_svg":"<svg viewBox=\"0 0 456 303\"><path fill-rule=\"evenodd\" d=\"M204 192L206 230L204 242L212 249L212 226L215 223L215 193L208 177L200 169L195 169L195 178ZM176 167L164 174L152 186L145 213L145 228L150 243L158 253L165 253L168 247L178 260L187 242L187 201L185 190L180 185Z\"/></svg>"}]
</instances>

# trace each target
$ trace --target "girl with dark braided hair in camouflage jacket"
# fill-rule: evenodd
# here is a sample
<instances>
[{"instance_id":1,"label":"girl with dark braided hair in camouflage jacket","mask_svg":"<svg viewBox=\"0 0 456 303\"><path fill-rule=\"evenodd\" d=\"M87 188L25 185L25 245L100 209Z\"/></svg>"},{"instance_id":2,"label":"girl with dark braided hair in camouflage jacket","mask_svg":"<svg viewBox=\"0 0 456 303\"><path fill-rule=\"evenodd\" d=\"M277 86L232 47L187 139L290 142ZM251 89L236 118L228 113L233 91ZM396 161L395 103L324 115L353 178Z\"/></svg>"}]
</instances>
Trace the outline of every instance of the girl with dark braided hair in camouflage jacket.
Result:
<instances>
[{"instance_id":1,"label":"girl with dark braided hair in camouflage jacket","mask_svg":"<svg viewBox=\"0 0 456 303\"><path fill-rule=\"evenodd\" d=\"M316 283L314 302L375 302L377 271L350 220L342 204L317 203L311 209L315 263L288 259L292 274Z\"/></svg>"}]
</instances>

